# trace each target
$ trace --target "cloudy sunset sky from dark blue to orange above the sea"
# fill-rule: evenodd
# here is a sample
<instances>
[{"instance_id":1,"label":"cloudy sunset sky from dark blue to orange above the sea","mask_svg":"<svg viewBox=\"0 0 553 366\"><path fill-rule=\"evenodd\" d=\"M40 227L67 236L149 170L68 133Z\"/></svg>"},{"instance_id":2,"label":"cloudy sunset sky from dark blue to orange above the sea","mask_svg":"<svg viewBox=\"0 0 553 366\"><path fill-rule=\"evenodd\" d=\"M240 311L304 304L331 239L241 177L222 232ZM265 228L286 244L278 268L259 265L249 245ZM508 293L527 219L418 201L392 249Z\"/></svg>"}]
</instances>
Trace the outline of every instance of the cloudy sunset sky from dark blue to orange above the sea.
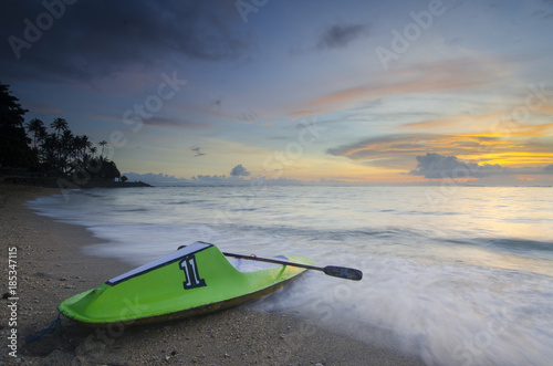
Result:
<instances>
[{"instance_id":1,"label":"cloudy sunset sky from dark blue to orange above the sea","mask_svg":"<svg viewBox=\"0 0 553 366\"><path fill-rule=\"evenodd\" d=\"M3 1L0 81L122 172L553 184L553 1Z\"/></svg>"}]
</instances>

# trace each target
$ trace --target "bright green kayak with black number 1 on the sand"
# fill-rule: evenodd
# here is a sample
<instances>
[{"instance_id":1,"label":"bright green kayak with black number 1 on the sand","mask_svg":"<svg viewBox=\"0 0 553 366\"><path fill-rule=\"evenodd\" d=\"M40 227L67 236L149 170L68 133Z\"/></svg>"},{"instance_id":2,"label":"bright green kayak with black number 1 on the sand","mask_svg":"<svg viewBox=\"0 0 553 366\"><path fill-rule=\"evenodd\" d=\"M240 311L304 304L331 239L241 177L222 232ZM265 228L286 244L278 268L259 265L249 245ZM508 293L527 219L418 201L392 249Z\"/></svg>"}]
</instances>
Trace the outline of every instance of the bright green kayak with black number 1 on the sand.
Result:
<instances>
[{"instance_id":1,"label":"bright green kayak with black number 1 on the sand","mask_svg":"<svg viewBox=\"0 0 553 366\"><path fill-rule=\"evenodd\" d=\"M313 264L303 257L281 258ZM88 326L166 321L259 299L305 271L292 265L229 260L217 247L198 241L72 296L58 309Z\"/></svg>"}]
</instances>

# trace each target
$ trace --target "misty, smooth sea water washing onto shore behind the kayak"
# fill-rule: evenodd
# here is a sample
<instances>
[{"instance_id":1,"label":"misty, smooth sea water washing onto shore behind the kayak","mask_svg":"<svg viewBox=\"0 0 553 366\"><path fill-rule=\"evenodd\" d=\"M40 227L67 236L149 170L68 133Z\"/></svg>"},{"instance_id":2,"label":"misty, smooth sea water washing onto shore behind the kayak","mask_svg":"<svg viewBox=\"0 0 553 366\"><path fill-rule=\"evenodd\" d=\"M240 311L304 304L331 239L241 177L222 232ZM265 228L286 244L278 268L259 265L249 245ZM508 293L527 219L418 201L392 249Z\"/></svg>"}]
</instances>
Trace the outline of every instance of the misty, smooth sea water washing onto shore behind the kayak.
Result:
<instances>
[{"instance_id":1,"label":"misty, smooth sea water washing onto shore behind the kayak","mask_svg":"<svg viewBox=\"0 0 553 366\"><path fill-rule=\"evenodd\" d=\"M153 187L28 205L86 227L98 243L85 253L136 265L201 240L361 269L359 282L310 271L253 307L427 364L553 360L551 187Z\"/></svg>"}]
</instances>

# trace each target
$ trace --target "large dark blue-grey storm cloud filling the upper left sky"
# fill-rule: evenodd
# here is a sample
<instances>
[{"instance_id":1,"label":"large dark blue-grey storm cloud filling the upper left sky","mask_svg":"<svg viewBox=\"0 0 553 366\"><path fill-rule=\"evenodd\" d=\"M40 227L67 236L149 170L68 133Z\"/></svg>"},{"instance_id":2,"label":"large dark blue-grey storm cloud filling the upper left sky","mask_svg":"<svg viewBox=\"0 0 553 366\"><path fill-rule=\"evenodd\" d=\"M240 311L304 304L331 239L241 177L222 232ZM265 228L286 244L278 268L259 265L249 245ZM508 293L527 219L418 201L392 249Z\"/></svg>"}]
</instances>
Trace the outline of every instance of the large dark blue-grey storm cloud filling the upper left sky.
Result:
<instances>
[{"instance_id":1,"label":"large dark blue-grey storm cloud filling the upper left sky","mask_svg":"<svg viewBox=\"0 0 553 366\"><path fill-rule=\"evenodd\" d=\"M0 9L0 65L18 79L90 81L127 66L222 61L248 48L223 1L10 1ZM45 7L44 3L51 4ZM31 25L29 25L31 24ZM18 57L19 55L19 57Z\"/></svg>"}]
</instances>

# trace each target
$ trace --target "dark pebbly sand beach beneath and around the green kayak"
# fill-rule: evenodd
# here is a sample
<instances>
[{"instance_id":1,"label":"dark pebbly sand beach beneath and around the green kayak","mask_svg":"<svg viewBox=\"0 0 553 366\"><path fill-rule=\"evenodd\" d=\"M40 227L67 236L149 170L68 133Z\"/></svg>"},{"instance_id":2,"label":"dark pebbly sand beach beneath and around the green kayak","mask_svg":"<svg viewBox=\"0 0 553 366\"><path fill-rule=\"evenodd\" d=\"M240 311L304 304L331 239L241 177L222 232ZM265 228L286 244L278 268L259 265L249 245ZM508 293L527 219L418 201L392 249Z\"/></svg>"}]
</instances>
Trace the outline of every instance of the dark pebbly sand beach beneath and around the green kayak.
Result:
<instances>
[{"instance_id":1,"label":"dark pebbly sand beach beneath and around the green kayak","mask_svg":"<svg viewBox=\"0 0 553 366\"><path fill-rule=\"evenodd\" d=\"M4 294L0 364L424 365L393 351L393 345L365 344L247 305L201 317L105 330L75 326L62 316L61 332L28 343L27 337L58 317L61 301L132 269L116 260L84 255L82 245L100 242L86 229L55 222L24 207L34 197L55 194L53 188L0 184L0 292ZM10 253L17 262L17 285L10 284ZM14 290L14 296L9 290ZM12 303L17 307L9 307ZM15 343L9 338L13 332Z\"/></svg>"}]
</instances>

